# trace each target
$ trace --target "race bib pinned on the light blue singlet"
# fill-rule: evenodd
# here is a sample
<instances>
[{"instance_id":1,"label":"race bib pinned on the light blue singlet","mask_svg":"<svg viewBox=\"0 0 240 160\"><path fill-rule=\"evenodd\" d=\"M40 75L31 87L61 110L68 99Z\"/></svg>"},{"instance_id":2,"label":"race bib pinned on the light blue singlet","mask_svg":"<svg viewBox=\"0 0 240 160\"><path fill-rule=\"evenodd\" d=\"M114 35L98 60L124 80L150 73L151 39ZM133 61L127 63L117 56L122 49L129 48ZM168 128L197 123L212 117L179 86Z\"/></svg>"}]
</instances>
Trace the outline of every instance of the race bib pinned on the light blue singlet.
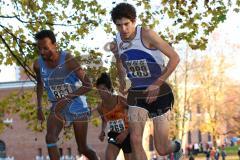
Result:
<instances>
[{"instance_id":1,"label":"race bib pinned on the light blue singlet","mask_svg":"<svg viewBox=\"0 0 240 160\"><path fill-rule=\"evenodd\" d=\"M50 86L50 89L56 99L63 98L66 95L68 95L69 93L73 92L70 84L61 84L61 85Z\"/></svg>"}]
</instances>

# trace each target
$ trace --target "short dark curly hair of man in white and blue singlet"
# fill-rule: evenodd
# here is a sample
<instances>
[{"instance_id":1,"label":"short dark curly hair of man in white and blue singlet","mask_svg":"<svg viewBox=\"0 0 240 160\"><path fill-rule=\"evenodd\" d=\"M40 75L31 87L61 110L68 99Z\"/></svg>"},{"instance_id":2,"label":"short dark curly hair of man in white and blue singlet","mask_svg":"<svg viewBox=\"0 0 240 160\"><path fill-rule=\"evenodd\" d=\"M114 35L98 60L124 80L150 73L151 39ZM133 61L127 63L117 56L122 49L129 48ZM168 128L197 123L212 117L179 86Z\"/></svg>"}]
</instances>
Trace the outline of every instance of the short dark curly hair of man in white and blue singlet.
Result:
<instances>
[{"instance_id":1,"label":"short dark curly hair of man in white and blue singlet","mask_svg":"<svg viewBox=\"0 0 240 160\"><path fill-rule=\"evenodd\" d=\"M135 8L128 3L119 3L111 11L111 17L113 22L116 24L116 21L121 18L128 18L132 22L136 20L136 10Z\"/></svg>"}]
</instances>

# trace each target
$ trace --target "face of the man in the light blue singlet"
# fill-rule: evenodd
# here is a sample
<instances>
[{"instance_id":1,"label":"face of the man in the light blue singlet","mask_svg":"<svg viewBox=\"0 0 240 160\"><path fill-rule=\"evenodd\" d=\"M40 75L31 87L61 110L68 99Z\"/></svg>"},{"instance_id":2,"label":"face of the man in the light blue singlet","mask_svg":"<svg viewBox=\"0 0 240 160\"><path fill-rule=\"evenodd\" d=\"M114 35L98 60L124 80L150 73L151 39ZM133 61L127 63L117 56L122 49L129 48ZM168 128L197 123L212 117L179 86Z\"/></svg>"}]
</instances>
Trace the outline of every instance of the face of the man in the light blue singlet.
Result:
<instances>
[{"instance_id":1,"label":"face of the man in the light blue singlet","mask_svg":"<svg viewBox=\"0 0 240 160\"><path fill-rule=\"evenodd\" d=\"M57 53L56 43L52 43L48 37L38 40L37 47L43 60L51 60L53 54Z\"/></svg>"}]
</instances>

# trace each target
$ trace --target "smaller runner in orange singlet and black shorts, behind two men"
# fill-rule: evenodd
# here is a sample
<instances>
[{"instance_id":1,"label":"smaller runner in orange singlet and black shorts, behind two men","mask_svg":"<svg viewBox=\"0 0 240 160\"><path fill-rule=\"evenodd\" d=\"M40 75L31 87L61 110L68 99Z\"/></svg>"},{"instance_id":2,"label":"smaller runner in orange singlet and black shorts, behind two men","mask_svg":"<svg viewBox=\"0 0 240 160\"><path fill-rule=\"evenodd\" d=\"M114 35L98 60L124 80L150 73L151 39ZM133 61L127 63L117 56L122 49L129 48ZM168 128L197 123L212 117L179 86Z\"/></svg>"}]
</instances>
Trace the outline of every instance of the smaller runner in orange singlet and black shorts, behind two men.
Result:
<instances>
[{"instance_id":1,"label":"smaller runner in orange singlet and black shorts, behind two men","mask_svg":"<svg viewBox=\"0 0 240 160\"><path fill-rule=\"evenodd\" d=\"M102 118L102 131L99 139L104 140L105 129L109 126L108 145L105 152L106 160L115 160L120 149L126 160L131 159L131 144L128 131L128 105L125 98L114 95L110 77L102 73L96 83L98 93L102 99L97 110Z\"/></svg>"}]
</instances>

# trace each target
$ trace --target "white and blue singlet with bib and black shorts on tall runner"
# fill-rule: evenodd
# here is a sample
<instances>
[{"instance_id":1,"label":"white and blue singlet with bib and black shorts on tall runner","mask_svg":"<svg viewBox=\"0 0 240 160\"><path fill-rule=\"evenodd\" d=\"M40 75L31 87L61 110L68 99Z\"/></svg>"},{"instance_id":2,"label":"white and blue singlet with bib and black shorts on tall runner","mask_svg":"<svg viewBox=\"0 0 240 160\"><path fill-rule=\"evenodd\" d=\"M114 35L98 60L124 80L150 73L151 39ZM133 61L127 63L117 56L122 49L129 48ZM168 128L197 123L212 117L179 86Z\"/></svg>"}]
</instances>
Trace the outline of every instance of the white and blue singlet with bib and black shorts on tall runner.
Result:
<instances>
[{"instance_id":1,"label":"white and blue singlet with bib and black shorts on tall runner","mask_svg":"<svg viewBox=\"0 0 240 160\"><path fill-rule=\"evenodd\" d=\"M142 27L136 27L135 37L124 41L120 33L116 36L118 55L131 81L128 103L144 108L149 117L154 118L166 113L173 105L173 93L167 83L161 85L157 100L148 104L144 90L162 75L164 60L158 49L147 48L142 42ZM136 102L135 102L136 101Z\"/></svg>"}]
</instances>

